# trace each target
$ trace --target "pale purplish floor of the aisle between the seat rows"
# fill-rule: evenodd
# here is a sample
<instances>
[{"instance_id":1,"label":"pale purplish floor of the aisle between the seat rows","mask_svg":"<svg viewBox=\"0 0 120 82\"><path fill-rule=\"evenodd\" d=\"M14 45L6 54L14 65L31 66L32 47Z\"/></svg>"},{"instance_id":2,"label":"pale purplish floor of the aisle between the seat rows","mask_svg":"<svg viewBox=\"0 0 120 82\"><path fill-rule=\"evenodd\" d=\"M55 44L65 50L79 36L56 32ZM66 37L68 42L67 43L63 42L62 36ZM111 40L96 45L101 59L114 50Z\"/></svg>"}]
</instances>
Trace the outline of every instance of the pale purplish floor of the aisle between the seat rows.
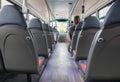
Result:
<instances>
[{"instance_id":1,"label":"pale purplish floor of the aisle between the seat rows","mask_svg":"<svg viewBox=\"0 0 120 82\"><path fill-rule=\"evenodd\" d=\"M66 43L57 43L39 82L82 82Z\"/></svg>"}]
</instances>

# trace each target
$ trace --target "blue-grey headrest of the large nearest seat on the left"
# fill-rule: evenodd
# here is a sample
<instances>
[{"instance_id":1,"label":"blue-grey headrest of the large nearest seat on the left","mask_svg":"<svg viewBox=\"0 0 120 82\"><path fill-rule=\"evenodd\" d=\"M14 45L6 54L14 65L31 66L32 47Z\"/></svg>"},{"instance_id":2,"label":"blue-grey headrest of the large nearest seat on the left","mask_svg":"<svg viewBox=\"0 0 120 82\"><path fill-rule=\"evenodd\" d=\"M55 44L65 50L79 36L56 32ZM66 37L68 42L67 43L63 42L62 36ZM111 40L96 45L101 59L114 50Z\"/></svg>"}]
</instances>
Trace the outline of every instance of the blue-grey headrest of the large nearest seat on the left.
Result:
<instances>
[{"instance_id":1,"label":"blue-grey headrest of the large nearest seat on the left","mask_svg":"<svg viewBox=\"0 0 120 82\"><path fill-rule=\"evenodd\" d=\"M0 12L0 26L2 25L19 25L26 29L26 21L23 13L16 6L6 5Z\"/></svg>"}]
</instances>

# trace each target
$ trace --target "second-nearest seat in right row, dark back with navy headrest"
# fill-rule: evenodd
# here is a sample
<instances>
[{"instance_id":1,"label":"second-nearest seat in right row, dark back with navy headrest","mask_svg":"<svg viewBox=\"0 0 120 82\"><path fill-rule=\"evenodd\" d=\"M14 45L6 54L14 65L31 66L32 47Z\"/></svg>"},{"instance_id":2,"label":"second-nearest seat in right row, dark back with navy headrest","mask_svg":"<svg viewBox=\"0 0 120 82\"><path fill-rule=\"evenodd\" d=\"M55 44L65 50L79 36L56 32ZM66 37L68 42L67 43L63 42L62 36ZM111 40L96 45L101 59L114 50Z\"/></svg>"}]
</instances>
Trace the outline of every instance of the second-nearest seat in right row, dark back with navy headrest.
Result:
<instances>
[{"instance_id":1,"label":"second-nearest seat in right row, dark back with navy headrest","mask_svg":"<svg viewBox=\"0 0 120 82\"><path fill-rule=\"evenodd\" d=\"M86 60L88 52L93 41L94 35L100 29L99 20L94 16L89 16L85 19L82 28L81 37L78 38L76 48L76 61Z\"/></svg>"}]
</instances>

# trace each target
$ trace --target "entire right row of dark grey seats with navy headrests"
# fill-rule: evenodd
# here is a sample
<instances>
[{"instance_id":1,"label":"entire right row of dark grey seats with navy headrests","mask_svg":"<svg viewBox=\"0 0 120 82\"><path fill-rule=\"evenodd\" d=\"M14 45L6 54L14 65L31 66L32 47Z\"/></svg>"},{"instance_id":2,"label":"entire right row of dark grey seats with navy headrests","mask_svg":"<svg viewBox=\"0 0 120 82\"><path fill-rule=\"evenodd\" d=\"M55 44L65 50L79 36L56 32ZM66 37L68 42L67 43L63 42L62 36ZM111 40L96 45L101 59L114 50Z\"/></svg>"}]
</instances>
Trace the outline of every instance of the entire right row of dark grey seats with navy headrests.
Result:
<instances>
[{"instance_id":1,"label":"entire right row of dark grey seats with navy headrests","mask_svg":"<svg viewBox=\"0 0 120 82\"><path fill-rule=\"evenodd\" d=\"M85 82L120 81L119 35L120 0L112 4L103 26L96 17L89 16L76 27L72 50L78 66L83 68Z\"/></svg>"}]
</instances>

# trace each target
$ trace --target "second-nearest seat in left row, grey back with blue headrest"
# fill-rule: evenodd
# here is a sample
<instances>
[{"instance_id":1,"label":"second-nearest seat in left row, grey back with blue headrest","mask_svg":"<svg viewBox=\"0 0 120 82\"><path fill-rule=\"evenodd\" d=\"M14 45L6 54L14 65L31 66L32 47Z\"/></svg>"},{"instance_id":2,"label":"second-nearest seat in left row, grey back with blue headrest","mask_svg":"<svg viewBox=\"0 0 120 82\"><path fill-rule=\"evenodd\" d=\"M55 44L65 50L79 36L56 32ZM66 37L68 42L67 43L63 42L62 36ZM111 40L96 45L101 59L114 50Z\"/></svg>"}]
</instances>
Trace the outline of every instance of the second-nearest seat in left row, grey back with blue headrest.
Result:
<instances>
[{"instance_id":1,"label":"second-nearest seat in left row, grey back with blue headrest","mask_svg":"<svg viewBox=\"0 0 120 82\"><path fill-rule=\"evenodd\" d=\"M39 19L32 19L28 29L29 33L33 36L38 55L48 58L47 38L43 32L41 21Z\"/></svg>"}]
</instances>

